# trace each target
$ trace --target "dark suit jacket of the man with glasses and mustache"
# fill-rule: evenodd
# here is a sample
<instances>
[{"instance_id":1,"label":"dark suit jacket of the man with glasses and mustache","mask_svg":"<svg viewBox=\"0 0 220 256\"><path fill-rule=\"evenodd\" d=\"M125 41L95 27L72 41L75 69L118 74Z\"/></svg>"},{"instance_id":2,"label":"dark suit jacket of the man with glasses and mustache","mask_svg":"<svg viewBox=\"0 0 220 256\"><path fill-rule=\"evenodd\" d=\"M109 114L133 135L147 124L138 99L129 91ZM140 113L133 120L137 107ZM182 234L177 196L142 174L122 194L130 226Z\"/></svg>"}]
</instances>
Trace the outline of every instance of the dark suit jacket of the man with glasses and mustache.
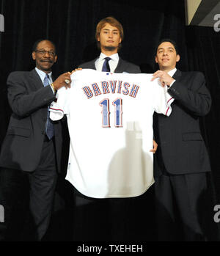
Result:
<instances>
[{"instance_id":1,"label":"dark suit jacket of the man with glasses and mustache","mask_svg":"<svg viewBox=\"0 0 220 256\"><path fill-rule=\"evenodd\" d=\"M40 161L48 103L54 99L51 87L44 87L36 70L12 72L7 78L12 109L7 134L1 146L0 167L32 172ZM54 122L56 160L60 169L62 127Z\"/></svg>"}]
</instances>

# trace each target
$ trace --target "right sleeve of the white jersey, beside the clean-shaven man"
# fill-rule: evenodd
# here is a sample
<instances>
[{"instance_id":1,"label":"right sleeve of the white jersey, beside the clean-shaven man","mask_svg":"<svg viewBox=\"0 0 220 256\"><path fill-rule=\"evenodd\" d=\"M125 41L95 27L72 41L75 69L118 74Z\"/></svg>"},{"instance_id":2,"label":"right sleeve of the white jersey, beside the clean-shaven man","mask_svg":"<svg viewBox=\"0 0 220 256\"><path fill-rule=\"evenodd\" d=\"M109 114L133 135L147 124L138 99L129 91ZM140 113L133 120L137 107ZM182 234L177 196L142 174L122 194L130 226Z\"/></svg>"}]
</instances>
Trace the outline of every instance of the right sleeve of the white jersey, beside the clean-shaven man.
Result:
<instances>
[{"instance_id":1,"label":"right sleeve of the white jersey, beside the clean-shaven man","mask_svg":"<svg viewBox=\"0 0 220 256\"><path fill-rule=\"evenodd\" d=\"M171 104L174 101L171 95L167 92L167 87L162 87L157 80L153 81L153 94L154 94L154 109L158 114L164 114L167 117L172 112Z\"/></svg>"}]
</instances>

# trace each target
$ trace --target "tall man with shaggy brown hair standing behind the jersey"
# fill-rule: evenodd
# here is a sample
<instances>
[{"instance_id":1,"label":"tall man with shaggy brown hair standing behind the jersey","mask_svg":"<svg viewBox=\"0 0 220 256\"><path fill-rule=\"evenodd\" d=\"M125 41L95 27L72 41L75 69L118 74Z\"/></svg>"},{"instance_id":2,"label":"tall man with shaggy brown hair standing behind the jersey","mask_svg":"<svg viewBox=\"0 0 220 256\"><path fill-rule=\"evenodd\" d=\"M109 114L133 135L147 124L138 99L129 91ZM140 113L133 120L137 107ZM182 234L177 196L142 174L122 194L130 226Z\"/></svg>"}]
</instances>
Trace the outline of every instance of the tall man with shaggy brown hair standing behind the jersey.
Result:
<instances>
[{"instance_id":1,"label":"tall man with shaggy brown hair standing behind the jersey","mask_svg":"<svg viewBox=\"0 0 220 256\"><path fill-rule=\"evenodd\" d=\"M98 23L95 34L100 56L79 67L111 73L141 73L139 66L121 59L118 54L123 37L124 32L119 21L112 17L103 18ZM156 145L152 151L155 151L155 147ZM142 205L142 200L142 196L94 199L85 197L75 189L75 240L131 241L135 237L138 239L139 230L136 228L135 232L133 227L136 227L135 208L136 205ZM81 235L77 232L78 229Z\"/></svg>"}]
</instances>

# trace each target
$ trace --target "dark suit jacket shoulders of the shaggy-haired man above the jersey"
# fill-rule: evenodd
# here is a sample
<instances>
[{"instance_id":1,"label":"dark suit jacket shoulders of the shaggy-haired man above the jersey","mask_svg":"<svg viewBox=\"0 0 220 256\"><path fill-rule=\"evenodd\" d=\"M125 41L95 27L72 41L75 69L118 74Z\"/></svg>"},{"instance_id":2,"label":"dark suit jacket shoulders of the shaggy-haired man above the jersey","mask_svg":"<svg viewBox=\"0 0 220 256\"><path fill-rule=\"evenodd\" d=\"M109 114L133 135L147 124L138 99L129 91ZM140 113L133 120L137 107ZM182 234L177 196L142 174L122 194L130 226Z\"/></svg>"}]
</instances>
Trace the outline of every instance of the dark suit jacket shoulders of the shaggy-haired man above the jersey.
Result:
<instances>
[{"instance_id":1,"label":"dark suit jacket shoulders of the shaggy-haired man above the jersey","mask_svg":"<svg viewBox=\"0 0 220 256\"><path fill-rule=\"evenodd\" d=\"M85 62L84 64L80 65L79 67L81 67L81 68L91 68L91 69L95 70L96 69L95 68L95 61L96 61L96 59L94 59L90 62ZM126 62L125 60L120 58L114 72L115 73L122 73L122 72L141 73L141 70L140 70L139 66L134 65L131 62Z\"/></svg>"}]
</instances>

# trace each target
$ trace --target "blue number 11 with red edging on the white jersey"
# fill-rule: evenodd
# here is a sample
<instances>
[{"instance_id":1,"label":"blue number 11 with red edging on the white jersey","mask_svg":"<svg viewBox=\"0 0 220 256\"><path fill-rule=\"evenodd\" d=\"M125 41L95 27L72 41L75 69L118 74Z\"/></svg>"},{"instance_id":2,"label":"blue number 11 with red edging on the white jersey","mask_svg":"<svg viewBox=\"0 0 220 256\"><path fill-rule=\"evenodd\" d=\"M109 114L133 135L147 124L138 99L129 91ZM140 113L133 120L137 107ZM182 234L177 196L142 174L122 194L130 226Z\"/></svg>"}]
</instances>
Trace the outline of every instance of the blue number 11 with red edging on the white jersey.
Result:
<instances>
[{"instance_id":1,"label":"blue number 11 with red edging on the white jersey","mask_svg":"<svg viewBox=\"0 0 220 256\"><path fill-rule=\"evenodd\" d=\"M110 125L110 105L109 105L109 99L103 99L100 103L100 106L102 106L103 111L102 113L102 119L103 119L103 128L111 127ZM122 99L117 98L112 102L112 105L114 106L114 126L115 127L122 127Z\"/></svg>"}]
</instances>

